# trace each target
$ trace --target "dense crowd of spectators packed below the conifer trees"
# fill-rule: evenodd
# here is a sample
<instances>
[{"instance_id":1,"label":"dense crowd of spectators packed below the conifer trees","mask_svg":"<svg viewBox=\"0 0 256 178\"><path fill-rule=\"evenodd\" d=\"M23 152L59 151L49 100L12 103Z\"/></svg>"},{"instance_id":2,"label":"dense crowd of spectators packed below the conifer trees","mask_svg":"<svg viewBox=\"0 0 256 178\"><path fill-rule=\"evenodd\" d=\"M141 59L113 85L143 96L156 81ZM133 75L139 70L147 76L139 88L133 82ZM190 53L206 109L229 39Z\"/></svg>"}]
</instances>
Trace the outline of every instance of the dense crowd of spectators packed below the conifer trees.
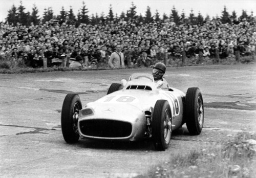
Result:
<instances>
[{"instance_id":1,"label":"dense crowd of spectators packed below the conifer trees","mask_svg":"<svg viewBox=\"0 0 256 178\"><path fill-rule=\"evenodd\" d=\"M226 24L213 18L197 25L176 25L172 19L150 24L120 19L75 27L68 17L30 26L1 23L0 57L33 68L95 68L108 66L111 54L120 46L127 67L146 66L138 62L142 52L152 63L163 61L167 65L170 61L180 65L188 61L218 63L228 57L239 62L241 56L254 60L255 29L254 22L231 17Z\"/></svg>"}]
</instances>

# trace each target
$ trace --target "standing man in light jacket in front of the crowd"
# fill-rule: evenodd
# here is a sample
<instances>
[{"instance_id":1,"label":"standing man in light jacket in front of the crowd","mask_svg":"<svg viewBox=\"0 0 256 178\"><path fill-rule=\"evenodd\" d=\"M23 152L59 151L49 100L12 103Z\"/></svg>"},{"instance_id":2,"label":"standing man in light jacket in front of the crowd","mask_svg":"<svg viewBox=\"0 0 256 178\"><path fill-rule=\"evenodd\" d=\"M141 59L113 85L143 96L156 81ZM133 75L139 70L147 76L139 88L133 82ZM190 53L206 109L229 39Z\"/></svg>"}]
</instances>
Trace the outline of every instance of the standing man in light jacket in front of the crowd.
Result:
<instances>
[{"instance_id":1,"label":"standing man in light jacket in front of the crowd","mask_svg":"<svg viewBox=\"0 0 256 178\"><path fill-rule=\"evenodd\" d=\"M116 51L113 52L109 59L109 66L112 69L124 68L124 55L121 52L121 46L116 46Z\"/></svg>"}]
</instances>

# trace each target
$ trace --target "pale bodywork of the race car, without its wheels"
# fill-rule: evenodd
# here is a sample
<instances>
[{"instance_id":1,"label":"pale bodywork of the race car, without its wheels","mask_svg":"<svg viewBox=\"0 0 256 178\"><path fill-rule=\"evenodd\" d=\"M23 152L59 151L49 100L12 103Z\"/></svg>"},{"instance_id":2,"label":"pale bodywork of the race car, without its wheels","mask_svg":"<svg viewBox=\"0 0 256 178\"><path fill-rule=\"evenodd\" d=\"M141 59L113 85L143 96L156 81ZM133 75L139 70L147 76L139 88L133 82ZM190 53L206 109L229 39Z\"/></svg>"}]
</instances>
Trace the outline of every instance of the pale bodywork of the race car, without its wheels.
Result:
<instances>
[{"instance_id":1,"label":"pale bodywork of the race car, without its wheels","mask_svg":"<svg viewBox=\"0 0 256 178\"><path fill-rule=\"evenodd\" d=\"M136 141L151 137L150 121L157 100L166 100L172 112L172 130L183 122L185 94L176 88L163 90L151 74L122 80L122 90L88 103L79 112L78 131L88 139Z\"/></svg>"}]
</instances>

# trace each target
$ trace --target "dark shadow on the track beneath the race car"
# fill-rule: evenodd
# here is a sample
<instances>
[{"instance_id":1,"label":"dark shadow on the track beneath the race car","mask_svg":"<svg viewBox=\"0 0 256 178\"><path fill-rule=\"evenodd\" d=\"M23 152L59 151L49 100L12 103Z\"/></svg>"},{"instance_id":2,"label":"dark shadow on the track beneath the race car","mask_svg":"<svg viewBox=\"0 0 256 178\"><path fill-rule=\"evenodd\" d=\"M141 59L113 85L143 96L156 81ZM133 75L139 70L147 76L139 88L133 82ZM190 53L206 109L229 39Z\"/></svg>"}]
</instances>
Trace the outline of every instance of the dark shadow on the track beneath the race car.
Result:
<instances>
[{"instance_id":1,"label":"dark shadow on the track beneath the race car","mask_svg":"<svg viewBox=\"0 0 256 178\"><path fill-rule=\"evenodd\" d=\"M172 132L172 139L178 140L180 137L190 136L187 129L179 128ZM154 142L152 139L145 139L136 142L121 142L121 141L105 141L105 140L90 140L90 139L79 139L76 144L81 148L90 149L113 149L113 150L142 150L151 151L155 150Z\"/></svg>"}]
</instances>

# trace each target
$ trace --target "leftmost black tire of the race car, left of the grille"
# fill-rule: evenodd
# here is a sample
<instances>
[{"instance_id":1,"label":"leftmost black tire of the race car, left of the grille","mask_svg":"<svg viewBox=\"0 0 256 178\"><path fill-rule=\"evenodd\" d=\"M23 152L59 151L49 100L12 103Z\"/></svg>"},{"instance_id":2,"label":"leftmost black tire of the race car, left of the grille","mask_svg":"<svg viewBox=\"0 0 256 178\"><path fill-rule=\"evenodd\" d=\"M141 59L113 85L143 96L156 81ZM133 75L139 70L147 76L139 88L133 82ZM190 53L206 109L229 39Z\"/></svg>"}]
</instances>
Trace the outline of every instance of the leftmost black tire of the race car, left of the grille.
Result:
<instances>
[{"instance_id":1,"label":"leftmost black tire of the race car, left of the grille","mask_svg":"<svg viewBox=\"0 0 256 178\"><path fill-rule=\"evenodd\" d=\"M80 138L78 120L74 119L74 115L78 114L80 109L82 109L80 97L77 94L68 94L61 110L61 130L67 143L76 143Z\"/></svg>"}]
</instances>

